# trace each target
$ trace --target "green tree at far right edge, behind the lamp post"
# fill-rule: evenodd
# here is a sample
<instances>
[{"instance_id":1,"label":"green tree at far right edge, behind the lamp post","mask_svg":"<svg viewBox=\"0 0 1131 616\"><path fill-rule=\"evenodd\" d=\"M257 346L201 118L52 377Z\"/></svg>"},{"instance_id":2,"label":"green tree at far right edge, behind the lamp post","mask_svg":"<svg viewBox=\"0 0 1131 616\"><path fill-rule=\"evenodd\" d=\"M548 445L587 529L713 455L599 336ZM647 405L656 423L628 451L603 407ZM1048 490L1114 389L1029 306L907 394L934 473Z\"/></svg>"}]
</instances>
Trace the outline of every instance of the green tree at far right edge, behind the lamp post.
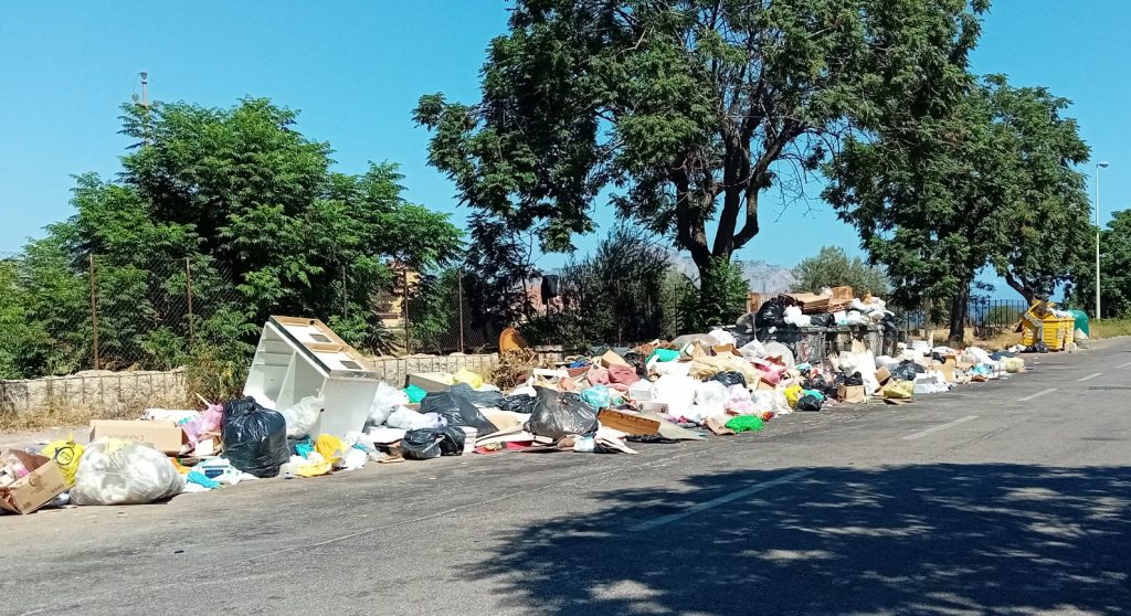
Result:
<instances>
[{"instance_id":1,"label":"green tree at far right edge, behind the lamp post","mask_svg":"<svg viewBox=\"0 0 1131 616\"><path fill-rule=\"evenodd\" d=\"M1106 227L1099 234L1102 316L1131 316L1131 210L1112 212ZM1091 242L1090 245L1095 246L1095 236ZM1076 261L1068 293L1073 305L1085 306L1089 312L1095 312L1093 306L1096 302L1096 263L1093 259Z\"/></svg>"}]
</instances>

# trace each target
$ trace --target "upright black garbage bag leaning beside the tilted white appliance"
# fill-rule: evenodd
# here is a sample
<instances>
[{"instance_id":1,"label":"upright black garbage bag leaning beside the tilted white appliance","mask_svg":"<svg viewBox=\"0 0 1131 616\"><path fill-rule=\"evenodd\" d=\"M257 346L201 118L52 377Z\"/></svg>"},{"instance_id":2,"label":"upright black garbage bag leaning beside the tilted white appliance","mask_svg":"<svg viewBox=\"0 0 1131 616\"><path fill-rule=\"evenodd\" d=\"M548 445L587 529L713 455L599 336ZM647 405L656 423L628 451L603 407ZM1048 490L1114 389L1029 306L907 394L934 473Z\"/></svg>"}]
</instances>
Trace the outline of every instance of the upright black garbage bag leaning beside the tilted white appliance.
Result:
<instances>
[{"instance_id":1,"label":"upright black garbage bag leaning beside the tilted white appliance","mask_svg":"<svg viewBox=\"0 0 1131 616\"><path fill-rule=\"evenodd\" d=\"M291 459L286 419L250 396L224 405L221 437L232 466L256 477L275 477Z\"/></svg>"}]
</instances>

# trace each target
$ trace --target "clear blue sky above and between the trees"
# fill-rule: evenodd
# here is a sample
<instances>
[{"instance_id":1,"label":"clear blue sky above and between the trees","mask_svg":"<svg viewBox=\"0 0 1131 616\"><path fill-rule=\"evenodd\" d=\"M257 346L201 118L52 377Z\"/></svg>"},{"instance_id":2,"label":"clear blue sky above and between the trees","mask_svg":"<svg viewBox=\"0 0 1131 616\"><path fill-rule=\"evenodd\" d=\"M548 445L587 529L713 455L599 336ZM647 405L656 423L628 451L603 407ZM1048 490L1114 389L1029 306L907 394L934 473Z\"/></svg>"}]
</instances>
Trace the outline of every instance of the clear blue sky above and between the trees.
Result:
<instances>
[{"instance_id":1,"label":"clear blue sky above and between the trees","mask_svg":"<svg viewBox=\"0 0 1131 616\"><path fill-rule=\"evenodd\" d=\"M71 174L118 171L118 106L150 75L150 96L228 106L244 95L301 110L299 129L335 148L338 170L395 160L407 197L461 220L452 188L425 164L421 94L474 101L502 0L336 2L6 2L0 5L0 253L70 216ZM998 0L974 54L977 72L1071 98L1104 171L1103 218L1131 207L1131 3ZM1087 172L1093 173L1089 164ZM763 199L761 234L741 259L793 266L822 244L856 250L851 228L812 196L779 215ZM607 226L610 216L598 220ZM581 250L593 240L578 242ZM547 257L553 267L561 258ZM1008 288L999 295L1008 296Z\"/></svg>"}]
</instances>

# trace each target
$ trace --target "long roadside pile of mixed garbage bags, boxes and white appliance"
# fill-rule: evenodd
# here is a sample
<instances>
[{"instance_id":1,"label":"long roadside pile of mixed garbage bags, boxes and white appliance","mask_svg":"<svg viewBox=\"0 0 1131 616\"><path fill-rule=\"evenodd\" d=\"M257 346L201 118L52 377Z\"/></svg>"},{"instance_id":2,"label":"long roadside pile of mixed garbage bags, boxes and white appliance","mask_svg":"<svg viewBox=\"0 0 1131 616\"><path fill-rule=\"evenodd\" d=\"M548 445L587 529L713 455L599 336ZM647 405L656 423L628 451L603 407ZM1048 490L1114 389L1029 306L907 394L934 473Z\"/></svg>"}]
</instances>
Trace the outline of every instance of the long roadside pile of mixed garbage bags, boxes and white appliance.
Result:
<instances>
[{"instance_id":1,"label":"long roadside pile of mixed garbage bags, boxes and white appliance","mask_svg":"<svg viewBox=\"0 0 1131 616\"><path fill-rule=\"evenodd\" d=\"M861 303L873 307L849 312L875 320L884 310ZM782 342L736 337L743 320L753 316L708 333L593 348L544 364L553 367L536 367L530 354L528 367L508 365L506 378L517 385L506 391L466 368L409 374L406 387L394 387L362 365L353 368L353 359L299 353L307 342L297 335L278 338L279 328L267 340L265 328L271 355L257 354L244 389L249 396L201 400L192 410L148 409L139 420L95 420L85 446L67 439L37 453L9 451L0 457L0 509L29 513L50 505L150 503L248 480L469 453L633 454L641 443L759 432L778 417L839 405L905 405L1025 370L1015 353L922 341L899 345L890 355L855 341L820 364L795 363ZM789 318L796 318L794 311ZM280 350L280 339L295 355ZM285 368L269 365L275 356ZM329 367L295 372L299 358ZM292 402L273 405L271 397Z\"/></svg>"}]
</instances>

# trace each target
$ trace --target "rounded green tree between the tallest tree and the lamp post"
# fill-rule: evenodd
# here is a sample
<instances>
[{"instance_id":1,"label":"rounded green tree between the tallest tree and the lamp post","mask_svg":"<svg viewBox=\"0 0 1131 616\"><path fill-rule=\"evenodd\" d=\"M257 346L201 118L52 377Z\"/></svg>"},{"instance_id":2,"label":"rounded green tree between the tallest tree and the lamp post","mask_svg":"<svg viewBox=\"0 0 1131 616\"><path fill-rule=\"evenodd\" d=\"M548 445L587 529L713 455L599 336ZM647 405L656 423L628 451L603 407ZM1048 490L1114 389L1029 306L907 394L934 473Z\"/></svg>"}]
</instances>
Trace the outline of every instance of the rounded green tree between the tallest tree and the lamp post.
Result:
<instances>
[{"instance_id":1,"label":"rounded green tree between the tallest tree and the lamp post","mask_svg":"<svg viewBox=\"0 0 1131 616\"><path fill-rule=\"evenodd\" d=\"M904 305L950 303L962 333L977 272L996 266L1033 298L1068 276L1087 226L1087 159L1065 102L1004 78L973 81L939 115L908 116L849 139L827 166L824 197L861 233Z\"/></svg>"}]
</instances>

